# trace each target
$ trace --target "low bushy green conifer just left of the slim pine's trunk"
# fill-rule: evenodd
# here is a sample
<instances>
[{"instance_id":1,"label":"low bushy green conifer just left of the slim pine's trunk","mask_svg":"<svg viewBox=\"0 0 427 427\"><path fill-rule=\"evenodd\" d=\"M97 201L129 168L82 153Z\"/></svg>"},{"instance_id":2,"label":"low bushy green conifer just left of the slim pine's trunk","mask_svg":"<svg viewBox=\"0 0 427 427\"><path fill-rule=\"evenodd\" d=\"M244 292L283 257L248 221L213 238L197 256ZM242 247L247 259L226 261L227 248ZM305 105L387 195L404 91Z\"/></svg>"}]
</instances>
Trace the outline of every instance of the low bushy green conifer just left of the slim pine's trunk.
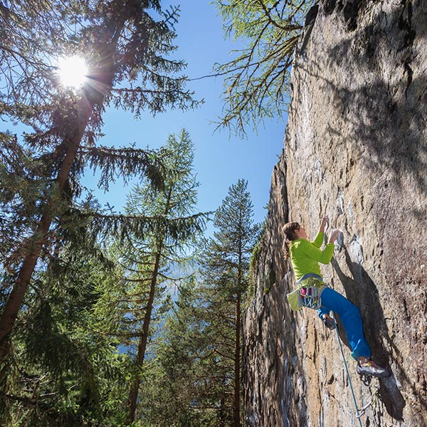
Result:
<instances>
[{"instance_id":1,"label":"low bushy green conifer just left of the slim pine's trunk","mask_svg":"<svg viewBox=\"0 0 427 427\"><path fill-rule=\"evenodd\" d=\"M216 362L196 286L194 278L181 283L163 333L154 343L155 358L139 404L143 426L215 425L217 400L211 394L209 376Z\"/></svg>"}]
</instances>

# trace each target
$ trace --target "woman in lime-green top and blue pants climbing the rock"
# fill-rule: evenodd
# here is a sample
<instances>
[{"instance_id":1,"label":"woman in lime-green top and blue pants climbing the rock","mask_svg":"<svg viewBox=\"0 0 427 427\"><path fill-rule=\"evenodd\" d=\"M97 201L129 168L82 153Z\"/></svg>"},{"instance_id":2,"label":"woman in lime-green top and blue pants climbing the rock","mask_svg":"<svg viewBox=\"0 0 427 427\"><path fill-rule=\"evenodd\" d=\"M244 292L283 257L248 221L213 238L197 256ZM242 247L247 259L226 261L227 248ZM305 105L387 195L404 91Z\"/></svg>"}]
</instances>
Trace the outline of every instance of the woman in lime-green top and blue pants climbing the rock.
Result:
<instances>
[{"instance_id":1,"label":"woman in lime-green top and blue pants climbing the rock","mask_svg":"<svg viewBox=\"0 0 427 427\"><path fill-rule=\"evenodd\" d=\"M297 290L288 294L290 305L292 310L299 310L301 307L317 309L320 319L329 329L336 327L329 313L332 311L339 315L352 349L352 357L357 360L357 373L380 378L389 376L386 368L371 360L371 349L364 338L359 308L329 288L322 279L319 263L330 263L334 254L334 242L341 233L339 230L332 231L325 249L320 250L327 221L327 216L324 216L313 242L307 240L307 233L299 223L290 222L283 226L285 258L290 257L297 280Z\"/></svg>"}]
</instances>

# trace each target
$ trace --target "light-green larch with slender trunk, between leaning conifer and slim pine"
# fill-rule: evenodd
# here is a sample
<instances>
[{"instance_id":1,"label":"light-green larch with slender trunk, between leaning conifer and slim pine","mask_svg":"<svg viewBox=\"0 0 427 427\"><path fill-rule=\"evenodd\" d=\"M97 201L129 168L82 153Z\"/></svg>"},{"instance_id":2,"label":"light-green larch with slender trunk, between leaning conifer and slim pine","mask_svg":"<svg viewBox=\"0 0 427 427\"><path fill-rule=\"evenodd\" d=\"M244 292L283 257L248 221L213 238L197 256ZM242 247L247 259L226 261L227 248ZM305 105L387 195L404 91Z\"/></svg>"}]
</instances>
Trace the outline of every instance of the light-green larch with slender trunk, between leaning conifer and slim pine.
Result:
<instances>
[{"instance_id":1,"label":"light-green larch with slender trunk, between leaning conifer and slim pine","mask_svg":"<svg viewBox=\"0 0 427 427\"><path fill-rule=\"evenodd\" d=\"M112 315L120 319L120 333L127 333L130 340L122 342L136 348L135 367L132 370L127 399L128 423L135 421L142 367L147 354L149 337L154 335L152 323L163 314L162 299L166 286L179 282L180 269L189 262L189 249L204 230L204 214L194 214L199 186L192 170L193 144L188 132L170 135L164 158L164 186L154 191L151 185L135 186L127 200L126 211L130 216L149 215L163 218L143 235L136 231L127 236L117 251L117 263L124 270L120 288L124 292L115 297L120 307ZM106 292L107 302L110 302ZM157 304L156 304L157 303ZM156 307L157 305L157 307Z\"/></svg>"}]
</instances>

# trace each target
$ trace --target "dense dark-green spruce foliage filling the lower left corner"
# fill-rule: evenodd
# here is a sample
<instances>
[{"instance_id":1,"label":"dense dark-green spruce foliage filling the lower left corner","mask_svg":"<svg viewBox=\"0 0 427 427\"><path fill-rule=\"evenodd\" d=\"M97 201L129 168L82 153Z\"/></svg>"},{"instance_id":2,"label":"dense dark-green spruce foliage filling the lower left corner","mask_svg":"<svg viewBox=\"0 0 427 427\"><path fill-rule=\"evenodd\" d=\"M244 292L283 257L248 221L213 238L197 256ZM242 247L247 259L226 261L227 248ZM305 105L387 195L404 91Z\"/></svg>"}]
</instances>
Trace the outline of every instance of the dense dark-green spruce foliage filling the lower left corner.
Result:
<instances>
[{"instance_id":1,"label":"dense dark-green spruce foliage filling the lower left corner","mask_svg":"<svg viewBox=\"0 0 427 427\"><path fill-rule=\"evenodd\" d=\"M114 338L94 330L95 284L109 268L84 251L63 248L36 275L0 373L2 425L119 425L127 360Z\"/></svg>"}]
</instances>

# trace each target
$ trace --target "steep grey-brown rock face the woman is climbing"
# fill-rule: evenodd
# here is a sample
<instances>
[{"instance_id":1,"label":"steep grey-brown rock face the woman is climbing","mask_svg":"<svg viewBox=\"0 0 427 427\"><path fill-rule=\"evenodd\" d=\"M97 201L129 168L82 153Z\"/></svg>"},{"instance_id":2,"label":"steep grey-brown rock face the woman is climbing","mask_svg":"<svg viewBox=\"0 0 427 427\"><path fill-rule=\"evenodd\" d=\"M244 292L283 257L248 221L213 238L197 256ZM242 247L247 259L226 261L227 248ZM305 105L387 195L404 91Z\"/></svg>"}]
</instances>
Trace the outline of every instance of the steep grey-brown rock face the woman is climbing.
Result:
<instances>
[{"instance_id":1,"label":"steep grey-brown rock face the woman is climbing","mask_svg":"<svg viewBox=\"0 0 427 427\"><path fill-rule=\"evenodd\" d=\"M427 426L426 195L427 0L322 0L295 53L244 317L248 425ZM391 371L360 379L343 344L360 423L337 333L285 298L295 279L280 230L299 221L314 238L325 214L344 246L322 271L360 308L373 358Z\"/></svg>"}]
</instances>

